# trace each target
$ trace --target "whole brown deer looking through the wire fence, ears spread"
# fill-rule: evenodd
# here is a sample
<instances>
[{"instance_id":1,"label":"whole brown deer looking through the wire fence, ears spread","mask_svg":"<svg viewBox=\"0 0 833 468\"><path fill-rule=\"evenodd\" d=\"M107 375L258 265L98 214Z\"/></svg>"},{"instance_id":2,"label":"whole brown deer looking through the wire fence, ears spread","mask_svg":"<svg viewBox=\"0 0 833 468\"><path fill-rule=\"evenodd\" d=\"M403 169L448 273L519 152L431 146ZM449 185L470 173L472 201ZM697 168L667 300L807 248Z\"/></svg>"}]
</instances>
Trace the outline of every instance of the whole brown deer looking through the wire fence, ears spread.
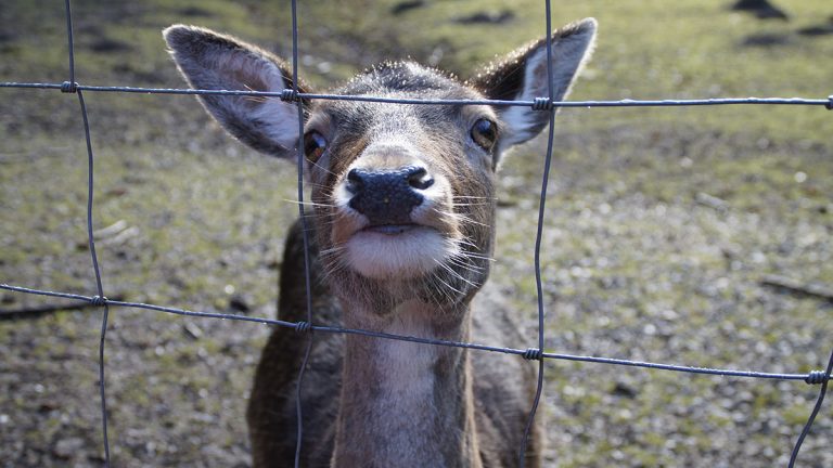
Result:
<instances>
[{"instance_id":1,"label":"whole brown deer looking through the wire fence, ears spread","mask_svg":"<svg viewBox=\"0 0 833 468\"><path fill-rule=\"evenodd\" d=\"M553 32L551 82L542 38L464 81L412 61L386 62L330 93L562 101L592 54L595 30L586 18ZM310 99L287 62L256 46L188 25L164 37L192 88L300 93L197 98L257 152L289 160L303 152L313 323L458 342L524 339L517 312L500 295L479 292L495 251L502 156L539 134L556 109ZM304 225L289 229L280 272L278 316L293 323L307 321ZM246 420L258 468L291 466L296 455L299 336L275 327L255 372ZM523 445L534 363L355 334L310 339L300 466L540 466L539 422Z\"/></svg>"}]
</instances>

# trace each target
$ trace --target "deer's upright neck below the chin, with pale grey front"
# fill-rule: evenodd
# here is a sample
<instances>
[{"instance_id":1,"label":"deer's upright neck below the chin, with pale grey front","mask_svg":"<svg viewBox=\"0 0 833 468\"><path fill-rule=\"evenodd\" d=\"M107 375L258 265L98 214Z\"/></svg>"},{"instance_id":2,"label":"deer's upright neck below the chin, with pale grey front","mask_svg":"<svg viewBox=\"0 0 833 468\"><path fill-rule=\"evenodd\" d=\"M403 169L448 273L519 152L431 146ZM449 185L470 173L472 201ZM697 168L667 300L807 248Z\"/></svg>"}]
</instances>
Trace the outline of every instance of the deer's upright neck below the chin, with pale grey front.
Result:
<instances>
[{"instance_id":1,"label":"deer's upright neck below the chin, with pale grey front","mask_svg":"<svg viewBox=\"0 0 833 468\"><path fill-rule=\"evenodd\" d=\"M348 327L465 341L471 318L411 300L387 316L345 311ZM462 316L440 330L432 317ZM336 467L480 467L471 364L461 348L347 335Z\"/></svg>"}]
</instances>

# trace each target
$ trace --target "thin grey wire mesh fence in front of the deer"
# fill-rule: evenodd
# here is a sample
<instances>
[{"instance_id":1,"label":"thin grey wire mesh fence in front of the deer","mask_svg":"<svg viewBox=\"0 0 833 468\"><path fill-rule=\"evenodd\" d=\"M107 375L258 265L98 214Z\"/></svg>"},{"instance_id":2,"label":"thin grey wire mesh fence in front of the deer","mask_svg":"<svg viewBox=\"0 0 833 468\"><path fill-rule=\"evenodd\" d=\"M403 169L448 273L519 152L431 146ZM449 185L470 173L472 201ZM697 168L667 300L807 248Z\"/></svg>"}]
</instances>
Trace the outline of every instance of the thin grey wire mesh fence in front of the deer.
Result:
<instances>
[{"instance_id":1,"label":"thin grey wire mesh fence in front of the deer","mask_svg":"<svg viewBox=\"0 0 833 468\"><path fill-rule=\"evenodd\" d=\"M95 294L92 296L77 295L62 291L50 291L42 289L35 289L18 285L0 284L0 289L26 294L26 295L39 295L72 299L80 302L88 302L91 306L103 309L101 321L101 333L99 341L99 390L101 402L101 430L103 435L103 448L104 448L104 465L110 466L110 440L107 437L107 402L106 402L106 385L105 385L105 343L107 332L107 318L110 315L111 307L133 308L143 309L157 312L165 312L176 315L196 316L205 318L222 318L230 321L241 322L254 322L272 326L280 326L295 329L299 333L308 334L307 348L304 356L304 362L300 366L300 372L297 380L296 389L296 408L298 415L297 422L297 447L295 452L295 466L299 465L299 456L302 453L303 441L303 415L300 403L300 388L303 385L304 369L309 359L311 346L312 346L312 333L326 333L326 334L351 334L360 335L369 338L381 338L388 340L409 341L414 343L422 343L426 346L438 347L456 347L470 349L484 352L496 352L503 354L514 354L526 360L538 361L538 381L536 388L536 394L529 416L527 420L526 430L524 433L524 443L518 447L518 465L524 465L524 452L526 448L526 440L529 437L530 428L535 421L538 404L541 399L543 389L544 377L544 360L561 360L561 361L576 361L585 363L607 364L616 366L629 366L650 368L658 370L668 370L676 373L699 374L699 375L713 375L725 376L735 378L753 378L753 379L768 379L768 380L785 380L785 381L804 381L808 385L820 385L819 395L816 400L810 415L807 418L806 424L802 430L802 433L797 437L793 446L789 466L793 467L796 463L802 444L809 433L816 417L821 408L824 395L826 394L828 382L830 381L831 372L833 372L833 352L831 352L826 368L812 370L809 373L800 374L781 374L781 373L767 373L756 370L740 370L740 369L726 369L726 368L707 368L707 367L692 367L684 365L674 365L665 363L630 361L623 359L610 359L599 358L590 355L575 355L546 352L544 349L544 304L542 292L542 278L540 268L540 250L541 238L543 234L543 220L544 208L548 190L548 178L550 173L550 166L553 153L553 122L555 110L560 107L679 107L679 106L714 106L714 105L791 105L791 106L821 106L828 109L833 109L833 95L826 99L802 99L802 98L721 98L721 99L704 99L704 100L655 100L655 101L637 101L637 100L618 100L618 101L553 101L552 86L549 89L549 96L536 98L534 101L499 101L499 100L412 100L412 99L390 99L380 98L372 95L336 95L336 94L316 94L316 93L303 93L297 89L298 83L298 26L297 26L297 2L292 0L292 36L293 36L293 89L283 90L282 92L261 92L261 91L236 91L236 90L202 90L202 89L167 89L167 88L137 88L137 87L120 87L120 86L86 86L76 82L75 80L75 54L74 54L74 38L73 38L73 17L71 0L65 0L65 17L66 17L66 34L67 34L67 58L68 58L68 80L62 83L49 83L49 82L0 82L0 88L8 89L46 89L46 90L60 90L62 93L74 93L78 96L79 114L84 123L84 134L87 145L87 160L88 160L88 186L87 186L87 236L90 257L92 261L92 268L95 277ZM551 24L551 5L550 0L544 0L546 10L546 34L547 34L547 50L548 62L547 69L550 77L549 82L552 83L552 24ZM304 101L310 100L342 100L342 101L364 101L375 103L388 103L392 105L492 105L492 106L520 106L529 107L530 112L549 112L549 138L547 144L547 153L544 158L544 165L542 169L542 181L540 199L538 204L538 222L535 242L535 278L537 289L537 302L538 302L538 347L529 349L513 349L502 348L488 344L480 344L474 342L458 342L448 340L438 340L424 337L393 335L386 333L372 332L367 329L354 329L345 327L330 326L326 324L317 324L312 321L312 303L310 292L310 278L309 278L309 251L308 251L308 230L306 229L307 218L304 212L304 156L303 156L303 141L298 141L297 144L297 196L299 206L299 217L304 224L304 246L305 246L305 275L306 275L306 289L307 289L307 321L300 322L286 322L280 320L249 317L233 314L214 313L214 312L200 312L185 309L163 307L140 302L128 302L119 300L107 299L102 287L101 271L99 268L99 260L95 253L95 243L93 238L93 188L94 188L94 153L92 148L92 142L90 139L90 126L87 115L87 106L84 100L84 92L118 92L118 93L145 93L145 94L195 94L195 95L248 95L260 98L280 98L286 102L294 102L297 105L298 110L298 130L299 139L303 139L304 134Z\"/></svg>"}]
</instances>

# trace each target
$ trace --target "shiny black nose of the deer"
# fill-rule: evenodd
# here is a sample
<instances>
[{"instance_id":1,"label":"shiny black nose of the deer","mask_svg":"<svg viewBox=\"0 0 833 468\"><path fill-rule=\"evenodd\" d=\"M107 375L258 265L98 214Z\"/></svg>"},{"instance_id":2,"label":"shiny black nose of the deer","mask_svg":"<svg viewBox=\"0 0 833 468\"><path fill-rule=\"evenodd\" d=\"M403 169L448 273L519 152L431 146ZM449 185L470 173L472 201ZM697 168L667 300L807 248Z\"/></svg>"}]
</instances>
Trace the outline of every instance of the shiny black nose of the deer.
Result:
<instances>
[{"instance_id":1,"label":"shiny black nose of the deer","mask_svg":"<svg viewBox=\"0 0 833 468\"><path fill-rule=\"evenodd\" d=\"M347 191L349 207L368 217L371 225L409 224L411 210L424 200L422 191L434 184L424 167L399 169L351 169Z\"/></svg>"}]
</instances>

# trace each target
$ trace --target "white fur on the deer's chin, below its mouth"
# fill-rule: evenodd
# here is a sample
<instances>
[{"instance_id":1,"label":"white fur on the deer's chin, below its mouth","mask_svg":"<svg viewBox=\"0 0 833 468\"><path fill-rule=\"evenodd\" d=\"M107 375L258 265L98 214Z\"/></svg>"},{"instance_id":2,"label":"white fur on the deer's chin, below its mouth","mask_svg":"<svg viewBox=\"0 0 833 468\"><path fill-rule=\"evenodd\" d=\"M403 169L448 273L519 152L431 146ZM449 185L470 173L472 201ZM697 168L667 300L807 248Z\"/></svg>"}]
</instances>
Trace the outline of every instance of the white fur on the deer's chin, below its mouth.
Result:
<instances>
[{"instance_id":1,"label":"white fur on the deer's chin, below its mouth","mask_svg":"<svg viewBox=\"0 0 833 468\"><path fill-rule=\"evenodd\" d=\"M347 240L346 247L347 264L374 280L419 276L457 252L451 239L422 226L395 235L359 231Z\"/></svg>"}]
</instances>

